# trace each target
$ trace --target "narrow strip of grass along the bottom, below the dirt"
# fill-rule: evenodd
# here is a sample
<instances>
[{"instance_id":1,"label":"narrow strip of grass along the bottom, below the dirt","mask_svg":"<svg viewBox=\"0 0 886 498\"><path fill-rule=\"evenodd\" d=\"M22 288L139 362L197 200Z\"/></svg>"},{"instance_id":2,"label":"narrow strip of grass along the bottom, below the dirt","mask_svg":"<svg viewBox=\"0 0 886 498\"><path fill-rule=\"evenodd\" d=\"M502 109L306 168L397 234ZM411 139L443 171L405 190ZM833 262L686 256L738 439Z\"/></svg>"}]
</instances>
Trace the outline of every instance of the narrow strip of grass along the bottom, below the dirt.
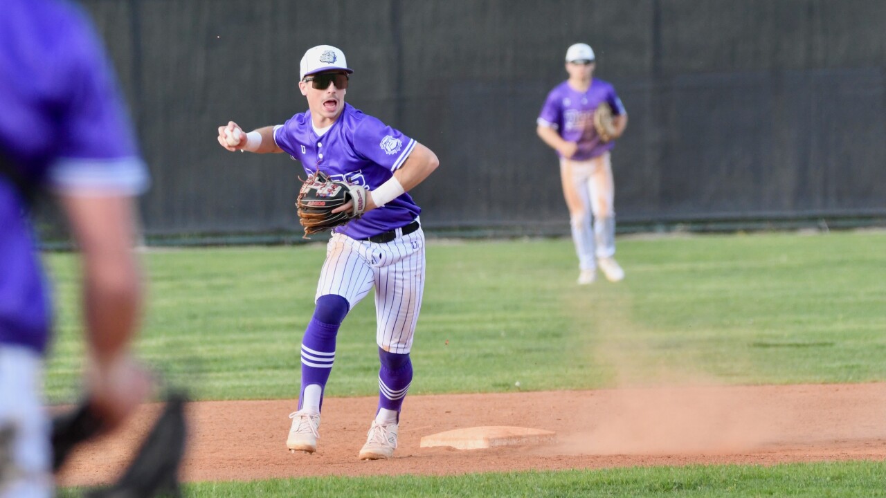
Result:
<instances>
[{"instance_id":1,"label":"narrow strip of grass along the bottom, below the dirt","mask_svg":"<svg viewBox=\"0 0 886 498\"><path fill-rule=\"evenodd\" d=\"M187 496L313 496L395 498L721 498L727 496L886 496L886 463L808 463L634 467L601 471L510 472L457 477L379 476L270 479L184 486ZM66 490L60 496L77 496Z\"/></svg>"}]
</instances>

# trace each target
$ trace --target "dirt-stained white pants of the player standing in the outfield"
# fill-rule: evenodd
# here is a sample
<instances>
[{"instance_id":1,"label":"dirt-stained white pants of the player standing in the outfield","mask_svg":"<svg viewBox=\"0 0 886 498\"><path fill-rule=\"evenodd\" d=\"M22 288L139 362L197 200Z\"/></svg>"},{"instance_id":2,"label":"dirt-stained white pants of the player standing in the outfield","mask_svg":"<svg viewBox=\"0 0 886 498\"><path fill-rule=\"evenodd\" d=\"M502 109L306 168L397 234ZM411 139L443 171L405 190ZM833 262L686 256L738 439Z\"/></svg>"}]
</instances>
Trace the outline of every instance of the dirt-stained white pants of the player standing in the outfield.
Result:
<instances>
[{"instance_id":1,"label":"dirt-stained white pants of the player standing in the outfield","mask_svg":"<svg viewBox=\"0 0 886 498\"><path fill-rule=\"evenodd\" d=\"M615 254L615 182L610 153L590 160L561 159L560 178L579 268L595 269L596 258Z\"/></svg>"}]
</instances>

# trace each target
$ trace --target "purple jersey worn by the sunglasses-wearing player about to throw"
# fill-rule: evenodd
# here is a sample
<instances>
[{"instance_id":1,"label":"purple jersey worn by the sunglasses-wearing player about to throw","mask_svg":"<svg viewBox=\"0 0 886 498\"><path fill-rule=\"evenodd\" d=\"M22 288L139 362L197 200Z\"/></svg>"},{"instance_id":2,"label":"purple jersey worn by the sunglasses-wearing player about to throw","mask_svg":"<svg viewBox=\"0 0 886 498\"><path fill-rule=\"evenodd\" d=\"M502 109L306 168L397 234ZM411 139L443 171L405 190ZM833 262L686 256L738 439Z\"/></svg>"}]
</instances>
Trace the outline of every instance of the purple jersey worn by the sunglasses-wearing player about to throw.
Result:
<instances>
[{"instance_id":1,"label":"purple jersey worn by the sunglasses-wearing player about to throw","mask_svg":"<svg viewBox=\"0 0 886 498\"><path fill-rule=\"evenodd\" d=\"M388 181L408 158L416 141L399 130L362 113L345 108L323 136L311 126L311 112L299 113L274 128L277 146L299 160L307 174L320 169L330 178L356 183L370 191ZM366 238L408 225L421 213L408 193L385 206L368 211L335 231Z\"/></svg>"}]
</instances>

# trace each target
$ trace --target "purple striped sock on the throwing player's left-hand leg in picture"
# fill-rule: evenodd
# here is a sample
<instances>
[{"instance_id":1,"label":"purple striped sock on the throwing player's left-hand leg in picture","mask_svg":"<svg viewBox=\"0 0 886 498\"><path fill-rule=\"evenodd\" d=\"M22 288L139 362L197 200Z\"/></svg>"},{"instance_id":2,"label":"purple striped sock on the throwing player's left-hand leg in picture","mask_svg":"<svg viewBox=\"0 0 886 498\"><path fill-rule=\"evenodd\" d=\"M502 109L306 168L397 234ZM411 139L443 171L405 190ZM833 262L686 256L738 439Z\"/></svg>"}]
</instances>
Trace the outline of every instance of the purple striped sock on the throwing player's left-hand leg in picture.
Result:
<instances>
[{"instance_id":1,"label":"purple striped sock on the throwing player's left-hand leg in picture","mask_svg":"<svg viewBox=\"0 0 886 498\"><path fill-rule=\"evenodd\" d=\"M320 412L323 408L323 391L330 378L335 362L335 344L338 327L347 315L347 300L337 295L321 296L317 300L314 317L307 323L305 336L301 339L301 392L299 409ZM319 385L319 391L309 390L308 385Z\"/></svg>"}]
</instances>

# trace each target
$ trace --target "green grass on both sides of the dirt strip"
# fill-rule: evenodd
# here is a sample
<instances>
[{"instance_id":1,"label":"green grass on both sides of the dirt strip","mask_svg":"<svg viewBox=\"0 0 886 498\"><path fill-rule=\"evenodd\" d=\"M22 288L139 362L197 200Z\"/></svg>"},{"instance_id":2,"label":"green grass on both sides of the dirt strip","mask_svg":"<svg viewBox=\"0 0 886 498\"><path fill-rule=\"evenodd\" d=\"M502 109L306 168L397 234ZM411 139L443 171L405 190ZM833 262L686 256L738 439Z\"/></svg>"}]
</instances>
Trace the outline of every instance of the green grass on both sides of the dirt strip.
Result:
<instances>
[{"instance_id":1,"label":"green grass on both sides of the dirt strip","mask_svg":"<svg viewBox=\"0 0 886 498\"><path fill-rule=\"evenodd\" d=\"M294 398L299 342L323 256L323 245L145 253L149 305L139 354L174 382L187 382L199 399ZM505 392L515 389L515 378L522 390L662 377L720 384L886 380L883 232L623 238L618 259L626 280L588 287L575 285L577 263L566 239L431 240L427 259L413 395ZM51 253L46 260L58 292L46 390L52 402L73 401L82 354L75 258ZM377 393L375 351L368 298L339 332L328 395ZM310 495L356 488L362 492L347 494L882 496L884 479L881 462L298 482ZM202 496L289 496L292 482L189 489Z\"/></svg>"}]
</instances>

